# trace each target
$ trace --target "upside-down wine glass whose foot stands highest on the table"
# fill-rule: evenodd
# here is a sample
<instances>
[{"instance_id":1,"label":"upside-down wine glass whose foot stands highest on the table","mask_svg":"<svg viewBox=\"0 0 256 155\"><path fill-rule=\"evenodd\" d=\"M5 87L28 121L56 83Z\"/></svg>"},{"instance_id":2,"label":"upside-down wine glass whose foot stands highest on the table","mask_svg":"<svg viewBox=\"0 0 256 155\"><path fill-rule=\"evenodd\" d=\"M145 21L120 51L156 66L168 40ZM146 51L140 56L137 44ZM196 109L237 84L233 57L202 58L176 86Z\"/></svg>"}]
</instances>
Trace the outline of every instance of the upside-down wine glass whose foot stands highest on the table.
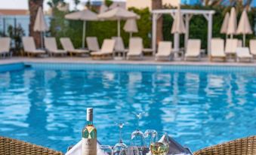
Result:
<instances>
[{"instance_id":1,"label":"upside-down wine glass whose foot stands highest on the table","mask_svg":"<svg viewBox=\"0 0 256 155\"><path fill-rule=\"evenodd\" d=\"M137 147L144 147L144 134L139 129L139 120L142 116L143 112L136 112L133 113L137 119L137 129L131 133L131 145L137 146Z\"/></svg>"}]
</instances>

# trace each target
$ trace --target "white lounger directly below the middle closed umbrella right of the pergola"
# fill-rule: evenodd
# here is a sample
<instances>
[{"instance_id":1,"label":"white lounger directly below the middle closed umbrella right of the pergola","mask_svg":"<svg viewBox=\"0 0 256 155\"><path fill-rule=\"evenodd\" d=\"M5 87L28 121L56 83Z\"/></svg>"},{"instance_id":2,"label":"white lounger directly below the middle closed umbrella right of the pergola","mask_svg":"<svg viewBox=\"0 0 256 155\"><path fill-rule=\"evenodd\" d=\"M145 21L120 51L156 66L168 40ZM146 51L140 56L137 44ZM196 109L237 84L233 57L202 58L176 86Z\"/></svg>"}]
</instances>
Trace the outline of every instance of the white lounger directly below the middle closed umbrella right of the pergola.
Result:
<instances>
[{"instance_id":1,"label":"white lounger directly below the middle closed umbrella right of the pergola","mask_svg":"<svg viewBox=\"0 0 256 155\"><path fill-rule=\"evenodd\" d=\"M229 57L236 57L236 48L238 47L238 40L237 39L227 39L225 53Z\"/></svg>"}]
</instances>

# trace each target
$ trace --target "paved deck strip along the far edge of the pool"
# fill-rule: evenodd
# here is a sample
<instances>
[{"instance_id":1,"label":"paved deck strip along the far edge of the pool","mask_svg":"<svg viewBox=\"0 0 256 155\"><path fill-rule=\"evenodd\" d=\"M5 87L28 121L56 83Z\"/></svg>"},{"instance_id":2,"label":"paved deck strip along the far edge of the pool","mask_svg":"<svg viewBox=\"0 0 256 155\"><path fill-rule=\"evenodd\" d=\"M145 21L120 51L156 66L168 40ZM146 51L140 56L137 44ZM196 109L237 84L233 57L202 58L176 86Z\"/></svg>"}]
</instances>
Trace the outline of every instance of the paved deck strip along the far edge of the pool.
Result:
<instances>
[{"instance_id":1,"label":"paved deck strip along the far edge of the pool","mask_svg":"<svg viewBox=\"0 0 256 155\"><path fill-rule=\"evenodd\" d=\"M40 62L40 63L89 63L89 64L143 64L143 65L227 65L227 66L255 66L256 59L253 62L209 62L207 58L201 61L184 61L175 59L173 61L156 61L153 56L145 56L143 60L93 60L89 57L48 57L48 58L28 58L28 57L12 57L0 59L0 65L11 64L17 62Z\"/></svg>"}]
</instances>

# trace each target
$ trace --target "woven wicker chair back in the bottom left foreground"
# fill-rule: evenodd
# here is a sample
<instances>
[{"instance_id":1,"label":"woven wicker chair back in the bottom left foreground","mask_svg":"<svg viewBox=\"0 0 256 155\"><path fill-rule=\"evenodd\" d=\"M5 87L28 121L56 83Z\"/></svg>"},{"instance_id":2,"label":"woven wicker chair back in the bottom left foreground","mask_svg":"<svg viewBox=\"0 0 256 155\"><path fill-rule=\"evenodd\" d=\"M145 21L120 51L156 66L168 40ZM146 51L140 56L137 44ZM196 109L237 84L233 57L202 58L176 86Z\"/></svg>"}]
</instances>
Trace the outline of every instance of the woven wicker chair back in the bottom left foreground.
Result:
<instances>
[{"instance_id":1,"label":"woven wicker chair back in the bottom left foreground","mask_svg":"<svg viewBox=\"0 0 256 155\"><path fill-rule=\"evenodd\" d=\"M63 155L63 153L0 136L0 155Z\"/></svg>"}]
</instances>

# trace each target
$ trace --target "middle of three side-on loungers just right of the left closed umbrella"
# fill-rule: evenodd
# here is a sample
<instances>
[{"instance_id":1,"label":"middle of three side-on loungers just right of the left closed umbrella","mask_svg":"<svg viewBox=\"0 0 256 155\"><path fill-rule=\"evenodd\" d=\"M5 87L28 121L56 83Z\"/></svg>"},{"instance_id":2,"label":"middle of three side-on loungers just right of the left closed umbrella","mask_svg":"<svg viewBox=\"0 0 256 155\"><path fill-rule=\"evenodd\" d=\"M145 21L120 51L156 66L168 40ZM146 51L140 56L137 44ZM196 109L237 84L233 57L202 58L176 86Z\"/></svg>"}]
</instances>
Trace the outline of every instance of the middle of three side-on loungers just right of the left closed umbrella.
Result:
<instances>
[{"instance_id":1,"label":"middle of three side-on loungers just right of the left closed umbrella","mask_svg":"<svg viewBox=\"0 0 256 155\"><path fill-rule=\"evenodd\" d=\"M56 39L53 37L45 38L45 48L48 50L51 56L66 56L66 50L58 50Z\"/></svg>"}]
</instances>

